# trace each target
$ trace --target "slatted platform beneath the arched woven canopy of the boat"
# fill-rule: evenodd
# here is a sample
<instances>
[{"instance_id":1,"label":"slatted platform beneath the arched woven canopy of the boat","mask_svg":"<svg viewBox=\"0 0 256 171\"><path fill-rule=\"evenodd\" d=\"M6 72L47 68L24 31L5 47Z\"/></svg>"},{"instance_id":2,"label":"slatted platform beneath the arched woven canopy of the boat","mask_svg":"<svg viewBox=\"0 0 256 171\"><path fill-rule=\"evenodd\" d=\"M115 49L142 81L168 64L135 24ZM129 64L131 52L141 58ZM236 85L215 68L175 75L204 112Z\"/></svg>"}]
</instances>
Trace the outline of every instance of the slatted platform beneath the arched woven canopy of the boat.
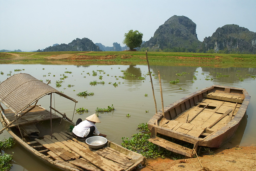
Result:
<instances>
[{"instance_id":1,"label":"slatted platform beneath the arched woven canopy of the boat","mask_svg":"<svg viewBox=\"0 0 256 171\"><path fill-rule=\"evenodd\" d=\"M30 106L27 109L25 109L20 115L22 115L23 113L28 111L31 107L33 107L33 106ZM15 114L10 109L4 109L2 111L2 115L5 118L7 124L9 124L11 121L15 120ZM36 105L34 109L32 109L31 111L26 113L23 117L19 118L17 121L18 121L19 125L25 125L28 123L36 123L41 120L50 120L50 116L51 116L50 111L46 110L45 108L43 108L41 106ZM29 117L33 117L35 119L34 120L31 120L31 119L26 120L25 119L25 118L29 118ZM51 118L57 119L57 118L61 118L61 117L52 113ZM15 126L17 126L16 121L9 127L12 128Z\"/></svg>"}]
</instances>

